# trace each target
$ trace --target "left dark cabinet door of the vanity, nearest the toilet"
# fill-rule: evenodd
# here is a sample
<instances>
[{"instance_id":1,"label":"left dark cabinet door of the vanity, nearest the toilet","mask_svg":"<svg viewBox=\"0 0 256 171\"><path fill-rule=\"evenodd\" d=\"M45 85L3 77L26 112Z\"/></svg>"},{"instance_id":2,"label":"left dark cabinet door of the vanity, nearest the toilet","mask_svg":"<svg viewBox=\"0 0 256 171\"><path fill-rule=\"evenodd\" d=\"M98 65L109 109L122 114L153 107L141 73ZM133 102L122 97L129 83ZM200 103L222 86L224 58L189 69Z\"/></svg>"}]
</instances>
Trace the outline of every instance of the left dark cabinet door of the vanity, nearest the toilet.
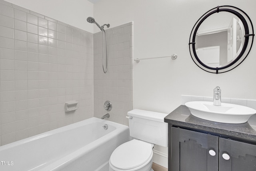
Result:
<instances>
[{"instance_id":1,"label":"left dark cabinet door of the vanity, nearest the toilet","mask_svg":"<svg viewBox=\"0 0 256 171\"><path fill-rule=\"evenodd\" d=\"M217 136L177 127L171 136L171 171L218 171Z\"/></svg>"}]
</instances>

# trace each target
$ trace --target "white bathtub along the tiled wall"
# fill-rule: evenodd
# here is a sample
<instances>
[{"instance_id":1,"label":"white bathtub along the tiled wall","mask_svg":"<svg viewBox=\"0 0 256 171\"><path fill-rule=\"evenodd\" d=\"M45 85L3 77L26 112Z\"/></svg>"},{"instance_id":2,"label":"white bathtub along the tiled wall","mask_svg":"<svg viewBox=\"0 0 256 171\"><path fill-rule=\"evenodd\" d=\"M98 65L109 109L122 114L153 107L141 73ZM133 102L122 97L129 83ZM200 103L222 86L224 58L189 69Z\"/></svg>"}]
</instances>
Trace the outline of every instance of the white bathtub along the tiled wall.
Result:
<instances>
[{"instance_id":1,"label":"white bathtub along the tiled wall","mask_svg":"<svg viewBox=\"0 0 256 171\"><path fill-rule=\"evenodd\" d=\"M108 171L126 141L128 126L92 117L1 146L0 171Z\"/></svg>"}]
</instances>

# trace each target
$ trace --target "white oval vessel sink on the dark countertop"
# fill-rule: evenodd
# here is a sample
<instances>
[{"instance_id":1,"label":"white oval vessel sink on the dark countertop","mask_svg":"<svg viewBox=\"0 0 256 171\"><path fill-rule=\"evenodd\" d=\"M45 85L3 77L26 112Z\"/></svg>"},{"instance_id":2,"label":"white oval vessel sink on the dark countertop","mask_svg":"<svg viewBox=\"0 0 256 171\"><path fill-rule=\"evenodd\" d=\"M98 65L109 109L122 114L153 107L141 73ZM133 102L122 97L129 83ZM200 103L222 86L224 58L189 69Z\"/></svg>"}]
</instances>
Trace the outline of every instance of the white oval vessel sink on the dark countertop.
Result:
<instances>
[{"instance_id":1,"label":"white oval vessel sink on the dark countertop","mask_svg":"<svg viewBox=\"0 0 256 171\"><path fill-rule=\"evenodd\" d=\"M221 103L221 106L216 106L212 101L190 101L185 105L192 115L221 123L245 123L256 113L256 110L250 107L229 103Z\"/></svg>"}]
</instances>

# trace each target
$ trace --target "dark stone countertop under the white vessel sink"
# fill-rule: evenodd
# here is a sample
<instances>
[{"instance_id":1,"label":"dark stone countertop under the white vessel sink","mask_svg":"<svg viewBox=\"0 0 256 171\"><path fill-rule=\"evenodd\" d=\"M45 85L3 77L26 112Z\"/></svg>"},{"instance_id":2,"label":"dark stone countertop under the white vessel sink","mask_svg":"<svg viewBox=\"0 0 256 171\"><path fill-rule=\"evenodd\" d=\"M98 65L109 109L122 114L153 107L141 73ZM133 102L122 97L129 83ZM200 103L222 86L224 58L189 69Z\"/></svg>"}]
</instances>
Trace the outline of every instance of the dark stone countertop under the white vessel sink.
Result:
<instances>
[{"instance_id":1,"label":"dark stone countertop under the white vessel sink","mask_svg":"<svg viewBox=\"0 0 256 171\"><path fill-rule=\"evenodd\" d=\"M219 123L207 121L191 115L188 107L180 105L164 118L164 122L171 125L197 129L209 133L214 133L228 138L256 143L256 127L251 126L248 122L240 124Z\"/></svg>"}]
</instances>

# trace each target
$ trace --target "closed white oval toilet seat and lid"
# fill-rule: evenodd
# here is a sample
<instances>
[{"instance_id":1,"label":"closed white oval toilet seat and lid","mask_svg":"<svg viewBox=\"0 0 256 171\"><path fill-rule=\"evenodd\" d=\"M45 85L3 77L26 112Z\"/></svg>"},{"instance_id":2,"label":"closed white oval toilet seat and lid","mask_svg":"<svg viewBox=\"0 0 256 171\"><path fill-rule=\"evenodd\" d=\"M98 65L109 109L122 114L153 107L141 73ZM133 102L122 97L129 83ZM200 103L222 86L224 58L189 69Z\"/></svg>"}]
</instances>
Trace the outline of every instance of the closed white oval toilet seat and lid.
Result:
<instances>
[{"instance_id":1,"label":"closed white oval toilet seat and lid","mask_svg":"<svg viewBox=\"0 0 256 171\"><path fill-rule=\"evenodd\" d=\"M110 163L118 169L134 169L151 161L153 156L150 143L133 139L117 147L110 156Z\"/></svg>"}]
</instances>

